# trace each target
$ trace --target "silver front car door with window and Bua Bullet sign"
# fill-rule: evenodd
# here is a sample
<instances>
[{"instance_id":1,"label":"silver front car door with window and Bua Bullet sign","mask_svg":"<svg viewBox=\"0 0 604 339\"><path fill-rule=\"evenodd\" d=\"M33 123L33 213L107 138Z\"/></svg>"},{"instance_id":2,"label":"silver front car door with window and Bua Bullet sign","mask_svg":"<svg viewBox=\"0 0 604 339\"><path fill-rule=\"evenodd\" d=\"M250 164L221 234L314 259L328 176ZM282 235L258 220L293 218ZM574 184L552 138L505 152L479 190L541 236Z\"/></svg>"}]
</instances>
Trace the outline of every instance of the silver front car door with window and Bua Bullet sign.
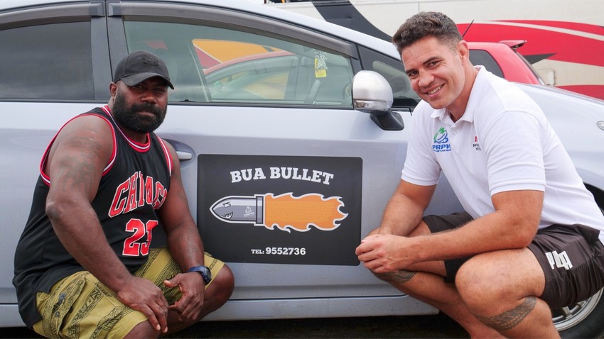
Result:
<instances>
[{"instance_id":1,"label":"silver front car door with window and Bua Bullet sign","mask_svg":"<svg viewBox=\"0 0 604 339\"><path fill-rule=\"evenodd\" d=\"M112 60L149 50L171 73L158 134L179 152L205 250L236 279L210 319L432 311L355 256L397 186L409 130L352 109L354 43L213 6L123 1L108 17ZM374 310L355 307L370 299Z\"/></svg>"}]
</instances>

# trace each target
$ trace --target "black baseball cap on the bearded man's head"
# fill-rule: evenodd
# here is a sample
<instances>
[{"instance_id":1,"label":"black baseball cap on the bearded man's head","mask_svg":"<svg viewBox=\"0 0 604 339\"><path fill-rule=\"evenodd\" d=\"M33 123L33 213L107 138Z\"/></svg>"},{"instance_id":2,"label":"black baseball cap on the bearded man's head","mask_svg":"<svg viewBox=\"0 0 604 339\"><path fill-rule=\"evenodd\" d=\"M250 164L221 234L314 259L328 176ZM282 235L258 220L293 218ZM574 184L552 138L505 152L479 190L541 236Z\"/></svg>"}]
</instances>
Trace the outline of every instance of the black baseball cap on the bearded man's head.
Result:
<instances>
[{"instance_id":1,"label":"black baseball cap on the bearded man's head","mask_svg":"<svg viewBox=\"0 0 604 339\"><path fill-rule=\"evenodd\" d=\"M151 77L161 77L168 82L171 89L174 89L166 63L151 52L137 50L131 52L117 64L113 82L122 80L124 84L134 86Z\"/></svg>"}]
</instances>

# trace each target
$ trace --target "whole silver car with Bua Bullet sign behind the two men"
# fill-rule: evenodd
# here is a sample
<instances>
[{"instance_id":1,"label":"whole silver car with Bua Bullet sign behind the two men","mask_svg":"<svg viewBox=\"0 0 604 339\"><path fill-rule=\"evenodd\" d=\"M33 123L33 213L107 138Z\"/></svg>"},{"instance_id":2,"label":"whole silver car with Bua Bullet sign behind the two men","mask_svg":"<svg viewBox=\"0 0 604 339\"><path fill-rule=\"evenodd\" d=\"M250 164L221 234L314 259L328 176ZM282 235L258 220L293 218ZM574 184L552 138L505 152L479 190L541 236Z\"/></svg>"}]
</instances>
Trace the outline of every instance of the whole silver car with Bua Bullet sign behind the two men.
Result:
<instances>
[{"instance_id":1,"label":"whole silver car with Bua Bullet sign behind the two men","mask_svg":"<svg viewBox=\"0 0 604 339\"><path fill-rule=\"evenodd\" d=\"M249 1L3 0L0 46L0 326L23 325L14 250L41 155L107 102L112 67L134 50L166 60L176 88L158 134L178 151L206 250L235 275L208 321L438 312L354 251L397 187L418 101L390 43ZM604 206L604 102L519 87ZM458 210L443 179L427 212ZM604 330L600 295L554 311L563 335Z\"/></svg>"}]
</instances>

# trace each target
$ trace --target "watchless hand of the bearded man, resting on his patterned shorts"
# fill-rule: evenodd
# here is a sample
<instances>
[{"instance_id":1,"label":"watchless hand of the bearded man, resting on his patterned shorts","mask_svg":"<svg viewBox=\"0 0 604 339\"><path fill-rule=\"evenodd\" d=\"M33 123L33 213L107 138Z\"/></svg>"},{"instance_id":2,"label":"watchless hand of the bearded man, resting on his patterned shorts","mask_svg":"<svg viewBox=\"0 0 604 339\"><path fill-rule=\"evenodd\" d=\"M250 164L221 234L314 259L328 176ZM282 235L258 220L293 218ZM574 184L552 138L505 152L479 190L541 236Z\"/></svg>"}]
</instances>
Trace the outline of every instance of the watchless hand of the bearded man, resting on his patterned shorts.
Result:
<instances>
[{"instance_id":1,"label":"watchless hand of the bearded man, resting on his patterned shorts","mask_svg":"<svg viewBox=\"0 0 604 339\"><path fill-rule=\"evenodd\" d=\"M117 292L117 297L124 305L147 316L153 328L168 332L168 301L155 284L147 279L132 277Z\"/></svg>"}]
</instances>

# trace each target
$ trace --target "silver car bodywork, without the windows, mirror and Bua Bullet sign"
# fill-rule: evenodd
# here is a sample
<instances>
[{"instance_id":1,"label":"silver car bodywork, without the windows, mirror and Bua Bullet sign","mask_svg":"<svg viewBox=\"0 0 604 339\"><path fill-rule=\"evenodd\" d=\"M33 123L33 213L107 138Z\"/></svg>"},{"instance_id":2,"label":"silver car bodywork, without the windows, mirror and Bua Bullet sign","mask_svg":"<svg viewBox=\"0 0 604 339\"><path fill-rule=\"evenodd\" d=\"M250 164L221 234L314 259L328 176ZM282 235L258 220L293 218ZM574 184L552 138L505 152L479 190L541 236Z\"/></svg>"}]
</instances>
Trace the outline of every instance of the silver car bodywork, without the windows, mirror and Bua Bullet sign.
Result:
<instances>
[{"instance_id":1,"label":"silver car bodywork, without the windows, mirror and Bua Bullet sign","mask_svg":"<svg viewBox=\"0 0 604 339\"><path fill-rule=\"evenodd\" d=\"M45 6L57 4L50 11ZM114 23L121 15L158 16L158 10L187 17L232 18L241 25L252 23L259 30L280 27L311 45L332 48L358 59L356 45L363 45L399 59L390 44L369 35L249 1L123 1L92 6L77 0L0 1L0 28L14 21L41 18L90 16L111 20L95 21L97 28L119 33ZM189 6L202 5L194 10ZM99 7L100 6L100 7ZM207 12L205 10L207 8ZM10 9L10 10L8 10ZM19 9L26 9L20 11ZM233 12L228 16L224 10ZM188 11L187 11L188 10ZM224 16L224 17L220 17ZM261 16L261 18L260 18ZM43 20L42 20L43 21ZM277 26L271 26L271 21ZM232 22L229 21L229 24ZM93 34L98 34L97 30ZM123 35L123 31L121 32ZM338 37L338 38L336 38ZM114 44L114 45L112 45ZM99 69L109 60L119 60L123 41L95 45ZM111 49L111 50L109 50ZM355 67L358 67L355 66ZM97 75L95 75L96 77ZM0 327L22 326L11 283L14 249L29 213L40 158L58 128L72 116L106 102L109 74L98 74L97 100L90 102L0 101L4 122L0 135L0 197L3 225L0 251ZM593 187L604 189L601 146L604 131L596 128L604 120L604 102L588 100L556 89L519 85L546 111L551 124L571 153L578 172ZM395 109L397 109L395 107ZM572 113L570 113L572 112ZM401 109L404 126L411 125L411 113ZM572 116L571 116L572 115ZM10 116L10 118L8 118ZM52 118L49 118L52 117ZM592 128L593 127L593 128ZM377 127L367 113L352 109L303 109L171 104L168 116L157 130L182 155L182 177L193 218L198 219L198 172L200 155L266 155L293 157L357 157L362 159L361 238L379 226L382 211L397 187L406 155L409 128L390 131ZM426 213L451 213L460 205L445 179ZM203 226L200 226L203 227ZM359 239L360 241L360 239ZM230 244L225 244L230 245ZM234 272L236 288L227 304L207 320L259 318L305 318L335 316L382 316L433 314L437 310L401 294L373 276L362 265L274 265L227 262Z\"/></svg>"}]
</instances>

